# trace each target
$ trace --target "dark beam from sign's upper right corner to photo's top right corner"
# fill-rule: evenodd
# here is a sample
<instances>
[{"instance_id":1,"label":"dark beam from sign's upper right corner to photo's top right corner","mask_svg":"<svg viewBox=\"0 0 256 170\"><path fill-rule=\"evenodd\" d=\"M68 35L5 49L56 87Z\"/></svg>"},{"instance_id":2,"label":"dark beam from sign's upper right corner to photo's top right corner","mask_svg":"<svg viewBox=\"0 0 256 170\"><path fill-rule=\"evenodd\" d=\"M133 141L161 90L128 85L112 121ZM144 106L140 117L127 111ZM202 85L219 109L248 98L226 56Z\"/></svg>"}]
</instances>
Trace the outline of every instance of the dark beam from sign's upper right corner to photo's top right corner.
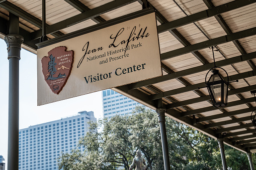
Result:
<instances>
[{"instance_id":1,"label":"dark beam from sign's upper right corner to photo's top right corner","mask_svg":"<svg viewBox=\"0 0 256 170\"><path fill-rule=\"evenodd\" d=\"M216 16L218 14L222 14L231 10L235 10L250 4L255 3L255 1L251 1L251 0L236 0L236 1L232 1L230 3L226 3L205 11L201 11L199 13L196 14L192 14L189 15L187 17L183 17L171 22L168 22L166 24L162 24L160 26L158 26L158 33L162 33L168 30L172 30L187 24L191 24L194 23L196 21L200 21L209 17L213 17Z\"/></svg>"}]
</instances>

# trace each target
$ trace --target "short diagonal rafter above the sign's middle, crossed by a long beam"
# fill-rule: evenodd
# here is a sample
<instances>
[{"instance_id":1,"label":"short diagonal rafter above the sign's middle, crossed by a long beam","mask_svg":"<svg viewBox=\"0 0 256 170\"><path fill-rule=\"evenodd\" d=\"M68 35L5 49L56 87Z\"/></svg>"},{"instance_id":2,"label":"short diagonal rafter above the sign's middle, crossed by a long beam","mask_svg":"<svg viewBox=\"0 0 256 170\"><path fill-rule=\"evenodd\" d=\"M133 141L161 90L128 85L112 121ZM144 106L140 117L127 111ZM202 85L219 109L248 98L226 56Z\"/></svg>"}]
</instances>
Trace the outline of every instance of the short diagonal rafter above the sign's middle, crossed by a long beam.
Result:
<instances>
[{"instance_id":1,"label":"short diagonal rafter above the sign's middle, crossed by a long beam","mask_svg":"<svg viewBox=\"0 0 256 170\"><path fill-rule=\"evenodd\" d=\"M88 8L87 6L85 6L78 0L64 0L64 1L67 2L69 5L71 5L72 7L74 7L76 10L78 10L81 13L91 10L90 8ZM102 17L95 17L95 18L92 18L92 20L97 24L103 23L106 21Z\"/></svg>"}]
</instances>

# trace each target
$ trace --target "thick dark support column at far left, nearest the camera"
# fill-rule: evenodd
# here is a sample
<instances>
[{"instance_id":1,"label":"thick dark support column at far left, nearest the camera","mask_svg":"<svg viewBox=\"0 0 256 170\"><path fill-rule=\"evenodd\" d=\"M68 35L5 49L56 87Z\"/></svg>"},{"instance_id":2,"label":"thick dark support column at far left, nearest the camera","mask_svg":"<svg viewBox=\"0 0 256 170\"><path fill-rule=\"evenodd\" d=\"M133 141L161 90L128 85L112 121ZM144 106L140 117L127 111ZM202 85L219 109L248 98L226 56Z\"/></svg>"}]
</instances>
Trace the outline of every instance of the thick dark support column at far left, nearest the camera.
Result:
<instances>
[{"instance_id":1,"label":"thick dark support column at far left, nearest the camera","mask_svg":"<svg viewBox=\"0 0 256 170\"><path fill-rule=\"evenodd\" d=\"M19 17L9 13L9 35L5 37L9 59L8 170L19 169L19 60L23 37Z\"/></svg>"}]
</instances>

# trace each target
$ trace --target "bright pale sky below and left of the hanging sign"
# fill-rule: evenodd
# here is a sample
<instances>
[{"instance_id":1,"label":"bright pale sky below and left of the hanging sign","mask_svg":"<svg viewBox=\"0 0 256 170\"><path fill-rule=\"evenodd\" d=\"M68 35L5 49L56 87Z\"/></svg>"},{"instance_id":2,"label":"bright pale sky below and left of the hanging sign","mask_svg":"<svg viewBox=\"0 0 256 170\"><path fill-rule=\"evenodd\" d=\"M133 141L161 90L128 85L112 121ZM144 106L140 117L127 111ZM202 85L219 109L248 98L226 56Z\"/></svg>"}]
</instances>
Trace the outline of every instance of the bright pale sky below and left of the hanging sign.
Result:
<instances>
[{"instance_id":1,"label":"bright pale sky below and left of the hanging sign","mask_svg":"<svg viewBox=\"0 0 256 170\"><path fill-rule=\"evenodd\" d=\"M0 89L0 155L4 156L7 165L9 60L7 46L2 39L0 39ZM94 111L97 119L103 116L101 91L37 106L37 56L24 49L21 50L19 98L20 129L76 115L83 110Z\"/></svg>"}]
</instances>

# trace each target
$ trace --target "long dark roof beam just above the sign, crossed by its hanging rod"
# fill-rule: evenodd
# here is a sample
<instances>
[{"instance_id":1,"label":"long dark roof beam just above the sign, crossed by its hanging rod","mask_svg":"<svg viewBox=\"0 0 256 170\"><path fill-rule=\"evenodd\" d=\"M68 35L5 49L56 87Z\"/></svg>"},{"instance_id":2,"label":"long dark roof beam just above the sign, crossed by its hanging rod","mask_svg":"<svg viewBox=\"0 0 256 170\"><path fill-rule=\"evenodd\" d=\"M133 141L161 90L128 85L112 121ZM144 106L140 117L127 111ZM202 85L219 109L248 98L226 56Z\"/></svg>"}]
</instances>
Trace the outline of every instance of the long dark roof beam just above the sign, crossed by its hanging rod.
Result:
<instances>
[{"instance_id":1,"label":"long dark roof beam just above the sign, crossed by its hanging rod","mask_svg":"<svg viewBox=\"0 0 256 170\"><path fill-rule=\"evenodd\" d=\"M134 3L134 2L136 2L136 0L112 1L110 3L102 5L100 7L96 7L92 10L83 12L81 14L78 14L78 15L68 18L66 20L63 20L61 22L52 24L47 27L46 34L54 33L56 31L65 29L67 27L73 26L73 25L81 23L83 21L93 19L95 17L100 16L101 14L116 10L118 8L121 8L123 6L126 6L126 5ZM41 34L42 34L42 30L37 30L37 31L32 32L31 36L33 39L37 39L37 38L39 38L39 36Z\"/></svg>"}]
</instances>

